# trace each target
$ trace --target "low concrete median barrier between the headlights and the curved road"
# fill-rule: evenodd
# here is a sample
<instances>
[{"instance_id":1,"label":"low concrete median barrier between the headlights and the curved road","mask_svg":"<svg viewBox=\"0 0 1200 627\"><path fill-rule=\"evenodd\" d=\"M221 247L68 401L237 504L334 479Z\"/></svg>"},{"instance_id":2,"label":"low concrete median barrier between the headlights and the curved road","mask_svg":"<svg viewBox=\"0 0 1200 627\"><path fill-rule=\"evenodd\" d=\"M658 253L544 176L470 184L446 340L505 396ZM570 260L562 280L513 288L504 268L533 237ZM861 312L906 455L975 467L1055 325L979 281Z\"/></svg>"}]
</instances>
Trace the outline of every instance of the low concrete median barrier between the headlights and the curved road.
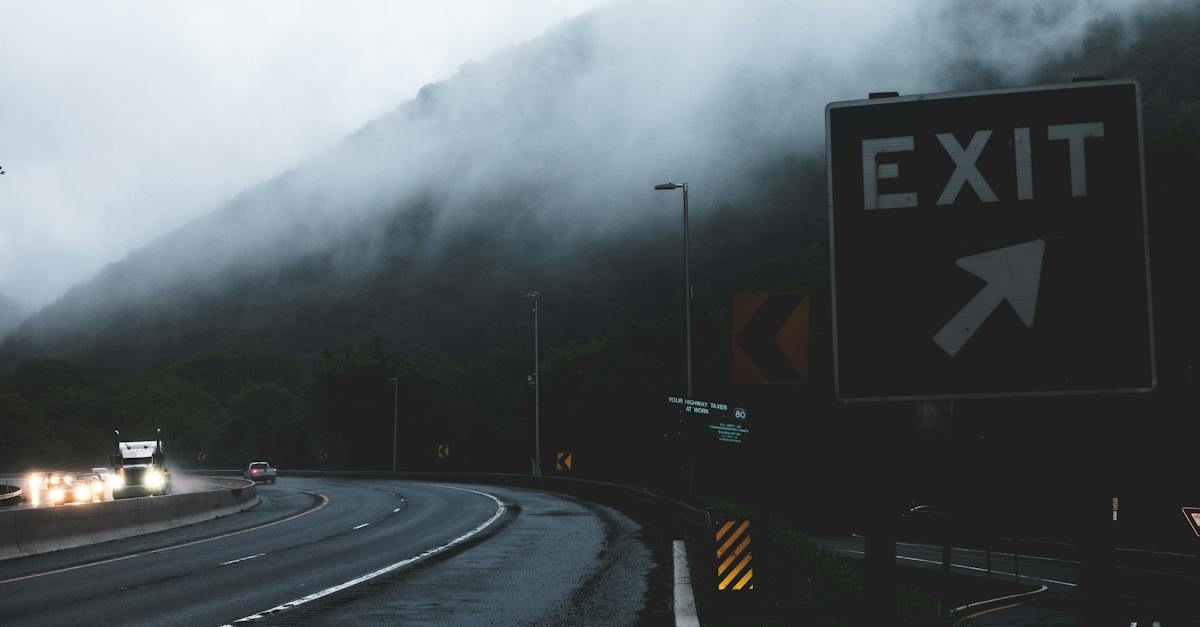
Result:
<instances>
[{"instance_id":1,"label":"low concrete median barrier between the headlights and the curved road","mask_svg":"<svg viewBox=\"0 0 1200 627\"><path fill-rule=\"evenodd\" d=\"M205 483L209 489L187 494L0 510L0 560L192 525L258 503L253 482L214 477Z\"/></svg>"}]
</instances>

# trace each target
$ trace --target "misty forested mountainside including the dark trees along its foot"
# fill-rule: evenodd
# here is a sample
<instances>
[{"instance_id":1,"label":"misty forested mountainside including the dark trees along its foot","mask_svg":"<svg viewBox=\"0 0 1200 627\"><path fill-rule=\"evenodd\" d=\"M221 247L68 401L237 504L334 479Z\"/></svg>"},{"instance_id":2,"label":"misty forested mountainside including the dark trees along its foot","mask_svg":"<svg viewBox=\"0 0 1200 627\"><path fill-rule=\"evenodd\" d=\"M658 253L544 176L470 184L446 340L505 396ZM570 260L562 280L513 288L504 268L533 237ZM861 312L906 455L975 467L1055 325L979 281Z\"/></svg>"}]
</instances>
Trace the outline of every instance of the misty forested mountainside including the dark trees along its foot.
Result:
<instances>
[{"instance_id":1,"label":"misty forested mountainside including the dark trees along its foot","mask_svg":"<svg viewBox=\"0 0 1200 627\"><path fill-rule=\"evenodd\" d=\"M113 428L162 426L180 465L388 468L397 377L402 470L523 472L533 320L521 294L539 289L544 458L575 450L580 476L677 488L664 396L684 389L679 197L650 186L688 180L696 389L756 407L761 434L754 459L713 459L748 474L829 467L860 434L832 419L823 104L1097 74L1141 82L1160 396L1182 394L1200 263L1194 211L1176 199L1200 167L1200 8L949 2L920 14L913 37L936 37L914 53L919 72L842 47L828 54L858 65L823 66L803 42L754 65L739 40L724 61L720 44L697 52L716 70L680 74L695 84L664 78L689 53L659 41L623 78L649 29L614 25L631 12L595 12L463 68L35 315L0 344L0 432L17 434L0 465L88 466ZM767 13L745 19L762 26ZM782 30L794 29L766 41ZM808 386L730 383L731 295L756 289L812 294ZM1176 414L1139 417L1148 441Z\"/></svg>"}]
</instances>

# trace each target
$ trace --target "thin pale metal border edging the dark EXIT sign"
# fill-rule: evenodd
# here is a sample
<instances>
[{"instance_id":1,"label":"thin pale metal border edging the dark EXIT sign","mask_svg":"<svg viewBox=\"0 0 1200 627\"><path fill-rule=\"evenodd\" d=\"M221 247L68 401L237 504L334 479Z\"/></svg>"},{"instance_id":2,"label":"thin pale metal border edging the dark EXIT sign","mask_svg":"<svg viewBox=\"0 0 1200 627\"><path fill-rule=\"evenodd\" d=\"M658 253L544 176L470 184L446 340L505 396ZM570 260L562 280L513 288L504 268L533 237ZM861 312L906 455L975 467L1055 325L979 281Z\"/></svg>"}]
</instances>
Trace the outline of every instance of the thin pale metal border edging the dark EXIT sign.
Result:
<instances>
[{"instance_id":1,"label":"thin pale metal border edging the dark EXIT sign","mask_svg":"<svg viewBox=\"0 0 1200 627\"><path fill-rule=\"evenodd\" d=\"M1145 264L1146 281L1146 333L1150 342L1150 384L1146 387L1130 388L1081 388L1063 390L1036 390L1036 392L988 392L988 393L948 393L948 394L912 394L912 395L875 395L875 396L842 396L841 389L841 363L838 352L838 261L836 238L834 232L834 169L833 169L833 143L830 126L830 109L851 107L877 107L881 104L893 104L917 101L958 100L974 96L994 96L1004 94L1028 94L1038 91L1060 91L1067 89L1093 89L1097 86L1133 85L1136 107L1136 142L1138 161L1140 167L1140 196L1141 196L1141 246ZM844 404L870 402L870 401L917 401L917 400L952 400L952 399L1010 399L1010 398L1050 398L1050 396L1078 396L1078 395L1106 395L1153 392L1158 386L1158 359L1154 346L1154 311L1153 293L1150 273L1150 219L1146 202L1146 148L1145 131L1142 127L1141 85L1134 79L1110 79L1110 80L1081 80L1075 83L1055 83L1043 85L1027 85L1002 89L984 89L967 91L943 91L934 94L914 94L907 96L894 96L887 98L868 98L853 101L836 101L826 104L826 197L829 208L829 289L830 289L830 314L833 330L833 380L834 396Z\"/></svg>"}]
</instances>

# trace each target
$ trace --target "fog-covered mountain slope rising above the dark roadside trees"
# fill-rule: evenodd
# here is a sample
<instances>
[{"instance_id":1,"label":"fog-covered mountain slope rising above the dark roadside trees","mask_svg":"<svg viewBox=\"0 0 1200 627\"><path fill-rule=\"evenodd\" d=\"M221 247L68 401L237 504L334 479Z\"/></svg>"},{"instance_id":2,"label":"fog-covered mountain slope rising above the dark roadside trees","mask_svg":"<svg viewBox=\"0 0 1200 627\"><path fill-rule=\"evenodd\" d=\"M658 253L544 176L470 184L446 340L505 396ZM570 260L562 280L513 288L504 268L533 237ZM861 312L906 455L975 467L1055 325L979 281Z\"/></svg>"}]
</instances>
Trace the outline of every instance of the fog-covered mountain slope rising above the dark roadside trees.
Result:
<instances>
[{"instance_id":1,"label":"fog-covered mountain slope rising above the dark roadside trees","mask_svg":"<svg viewBox=\"0 0 1200 627\"><path fill-rule=\"evenodd\" d=\"M530 289L551 347L679 314L679 197L655 183L690 184L713 321L736 289L823 288L829 101L1104 73L1144 82L1147 127L1196 131L1186 2L838 6L660 0L568 20L112 263L6 338L0 369L382 338L520 376Z\"/></svg>"}]
</instances>

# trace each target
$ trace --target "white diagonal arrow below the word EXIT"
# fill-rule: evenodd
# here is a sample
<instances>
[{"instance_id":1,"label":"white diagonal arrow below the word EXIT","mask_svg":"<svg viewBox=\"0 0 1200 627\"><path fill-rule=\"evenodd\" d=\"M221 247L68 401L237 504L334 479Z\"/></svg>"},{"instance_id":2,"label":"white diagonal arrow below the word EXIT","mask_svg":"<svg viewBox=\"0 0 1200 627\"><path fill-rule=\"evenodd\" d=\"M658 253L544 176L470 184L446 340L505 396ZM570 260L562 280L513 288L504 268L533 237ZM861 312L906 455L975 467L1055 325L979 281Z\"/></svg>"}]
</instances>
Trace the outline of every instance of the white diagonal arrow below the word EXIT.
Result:
<instances>
[{"instance_id":1,"label":"white diagonal arrow below the word EXIT","mask_svg":"<svg viewBox=\"0 0 1200 627\"><path fill-rule=\"evenodd\" d=\"M988 281L988 285L934 335L937 346L950 357L958 354L1004 300L1013 305L1026 327L1032 327L1045 247L1044 239L1034 239L959 259L959 268Z\"/></svg>"}]
</instances>

